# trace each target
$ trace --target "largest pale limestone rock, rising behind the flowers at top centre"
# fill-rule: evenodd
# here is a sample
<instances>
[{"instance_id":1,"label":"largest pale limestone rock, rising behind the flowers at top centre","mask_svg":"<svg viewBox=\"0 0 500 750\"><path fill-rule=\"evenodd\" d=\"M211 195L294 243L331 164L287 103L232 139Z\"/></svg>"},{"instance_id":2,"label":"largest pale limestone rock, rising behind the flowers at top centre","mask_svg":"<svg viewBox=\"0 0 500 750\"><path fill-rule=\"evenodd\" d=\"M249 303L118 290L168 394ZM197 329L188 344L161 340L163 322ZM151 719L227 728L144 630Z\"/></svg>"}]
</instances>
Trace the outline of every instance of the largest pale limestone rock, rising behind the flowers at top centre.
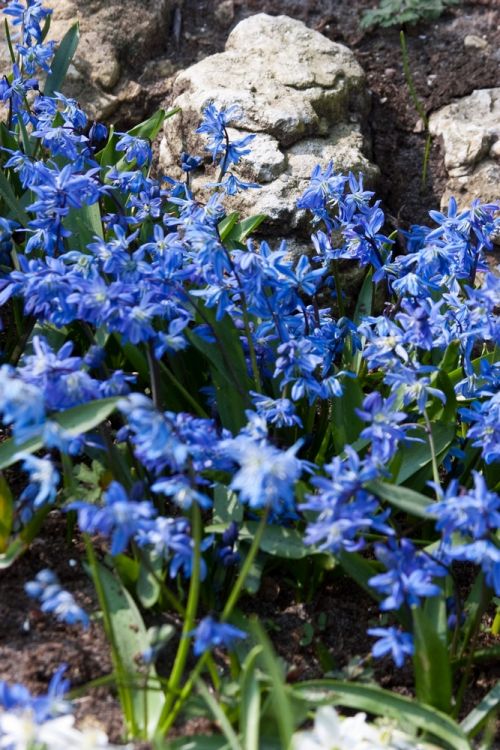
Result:
<instances>
[{"instance_id":1,"label":"largest pale limestone rock, rising behind the flowers at top centre","mask_svg":"<svg viewBox=\"0 0 500 750\"><path fill-rule=\"evenodd\" d=\"M209 102L239 105L232 137L256 134L239 174L262 187L235 196L228 208L266 213L275 234L305 229L295 203L317 163L333 159L339 169L363 171L368 183L378 175L361 132L369 109L363 70L347 47L300 21L264 13L242 21L225 51L180 73L173 92L181 113L165 123L161 168L178 176L181 151L203 153L206 141L194 131ZM207 171L195 188L214 180Z\"/></svg>"}]
</instances>

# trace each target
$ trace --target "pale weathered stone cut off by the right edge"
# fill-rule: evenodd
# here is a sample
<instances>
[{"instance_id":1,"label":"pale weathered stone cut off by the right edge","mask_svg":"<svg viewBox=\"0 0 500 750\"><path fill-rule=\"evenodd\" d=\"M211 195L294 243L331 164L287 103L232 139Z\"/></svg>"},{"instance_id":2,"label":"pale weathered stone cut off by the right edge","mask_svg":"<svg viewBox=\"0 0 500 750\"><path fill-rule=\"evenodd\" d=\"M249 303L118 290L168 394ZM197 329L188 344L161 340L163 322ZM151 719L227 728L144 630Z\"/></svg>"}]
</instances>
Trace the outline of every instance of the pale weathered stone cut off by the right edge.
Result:
<instances>
[{"instance_id":1,"label":"pale weathered stone cut off by the right edge","mask_svg":"<svg viewBox=\"0 0 500 750\"><path fill-rule=\"evenodd\" d=\"M429 130L442 138L449 180L442 198L461 205L474 198L498 200L500 186L500 88L478 89L431 115Z\"/></svg>"}]
</instances>

